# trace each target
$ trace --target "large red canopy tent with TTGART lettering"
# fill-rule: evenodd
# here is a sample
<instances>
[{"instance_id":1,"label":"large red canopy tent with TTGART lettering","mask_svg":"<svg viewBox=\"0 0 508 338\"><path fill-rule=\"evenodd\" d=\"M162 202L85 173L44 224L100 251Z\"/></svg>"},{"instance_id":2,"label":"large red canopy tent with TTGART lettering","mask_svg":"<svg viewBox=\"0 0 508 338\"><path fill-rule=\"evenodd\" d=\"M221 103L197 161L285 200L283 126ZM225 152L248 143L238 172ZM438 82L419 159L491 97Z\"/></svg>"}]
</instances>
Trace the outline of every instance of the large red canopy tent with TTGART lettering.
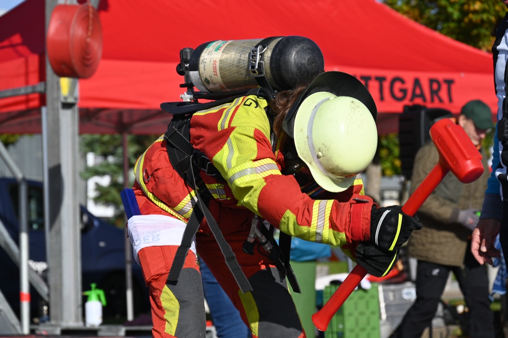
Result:
<instances>
[{"instance_id":1,"label":"large red canopy tent with TTGART lettering","mask_svg":"<svg viewBox=\"0 0 508 338\"><path fill-rule=\"evenodd\" d=\"M103 54L79 81L81 133L162 134L179 101L180 49L213 40L299 35L321 48L326 70L364 82L380 133L397 131L404 105L454 113L472 99L496 110L492 55L440 35L375 0L175 3L101 0ZM0 17L0 91L45 80L44 2L26 0ZM247 66L246 66L247 67ZM40 133L43 94L0 99L0 133Z\"/></svg>"}]
</instances>

